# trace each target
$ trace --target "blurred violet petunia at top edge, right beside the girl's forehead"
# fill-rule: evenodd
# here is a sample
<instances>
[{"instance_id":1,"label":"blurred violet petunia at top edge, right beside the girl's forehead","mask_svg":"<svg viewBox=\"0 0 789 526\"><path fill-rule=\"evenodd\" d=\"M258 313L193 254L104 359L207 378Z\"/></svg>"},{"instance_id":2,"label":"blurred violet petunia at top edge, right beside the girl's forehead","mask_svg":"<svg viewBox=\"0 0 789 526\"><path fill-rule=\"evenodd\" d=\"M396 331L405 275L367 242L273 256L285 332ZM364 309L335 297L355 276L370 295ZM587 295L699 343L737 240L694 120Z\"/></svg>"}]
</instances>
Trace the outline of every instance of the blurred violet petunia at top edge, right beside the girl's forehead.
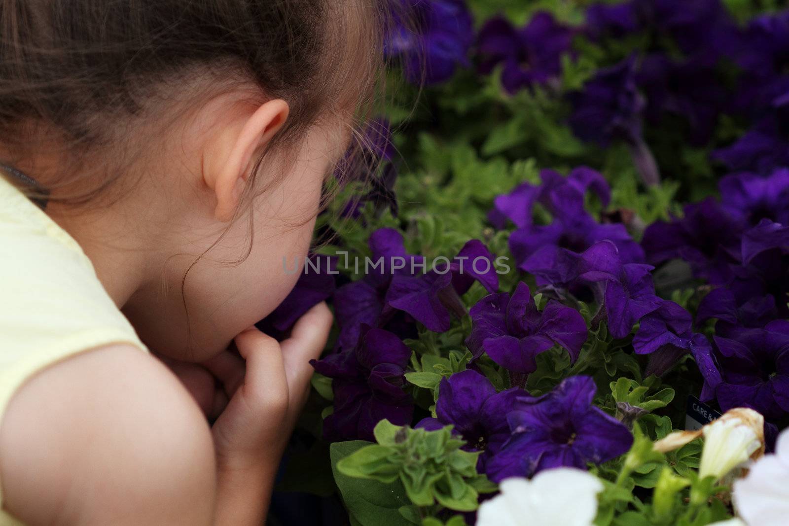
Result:
<instances>
[{"instance_id":1,"label":"blurred violet petunia at top edge, right beside the girl's forehead","mask_svg":"<svg viewBox=\"0 0 789 526\"><path fill-rule=\"evenodd\" d=\"M406 13L394 17L384 52L402 59L410 82L439 84L449 80L458 65L468 67L474 30L466 2L402 0L402 4Z\"/></svg>"}]
</instances>

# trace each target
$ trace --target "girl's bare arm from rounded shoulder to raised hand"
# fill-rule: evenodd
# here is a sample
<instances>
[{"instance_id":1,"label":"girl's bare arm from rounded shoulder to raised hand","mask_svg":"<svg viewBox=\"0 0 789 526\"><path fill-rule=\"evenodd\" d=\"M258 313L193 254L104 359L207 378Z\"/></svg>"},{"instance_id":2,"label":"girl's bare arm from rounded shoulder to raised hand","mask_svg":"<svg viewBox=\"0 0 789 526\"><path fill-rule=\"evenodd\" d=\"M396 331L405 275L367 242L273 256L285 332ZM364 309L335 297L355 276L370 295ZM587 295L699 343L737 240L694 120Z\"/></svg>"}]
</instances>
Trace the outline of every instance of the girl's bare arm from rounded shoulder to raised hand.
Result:
<instances>
[{"instance_id":1,"label":"girl's bare arm from rounded shoulder to raised hand","mask_svg":"<svg viewBox=\"0 0 789 526\"><path fill-rule=\"evenodd\" d=\"M4 509L28 524L262 524L308 393L325 304L278 344L237 338L246 373L211 430L158 360L114 345L41 371L0 423Z\"/></svg>"}]
</instances>

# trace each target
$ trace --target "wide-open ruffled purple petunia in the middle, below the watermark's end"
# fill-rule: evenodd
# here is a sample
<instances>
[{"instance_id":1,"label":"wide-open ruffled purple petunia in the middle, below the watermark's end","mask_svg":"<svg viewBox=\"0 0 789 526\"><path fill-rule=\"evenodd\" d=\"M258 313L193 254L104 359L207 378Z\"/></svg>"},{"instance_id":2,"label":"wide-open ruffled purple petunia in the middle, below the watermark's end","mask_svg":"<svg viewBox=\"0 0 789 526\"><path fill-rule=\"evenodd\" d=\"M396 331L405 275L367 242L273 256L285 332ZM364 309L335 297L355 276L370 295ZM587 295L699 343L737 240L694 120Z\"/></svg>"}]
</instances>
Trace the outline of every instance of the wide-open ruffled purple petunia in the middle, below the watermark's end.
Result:
<instances>
[{"instance_id":1,"label":"wide-open ruffled purple petunia in the middle, below the watermark's end","mask_svg":"<svg viewBox=\"0 0 789 526\"><path fill-rule=\"evenodd\" d=\"M475 358L488 353L510 371L530 373L537 369L538 354L559 345L578 359L587 336L586 323L578 311L551 300L537 310L529 286L518 283L512 297L491 294L471 308L473 330L466 345Z\"/></svg>"}]
</instances>

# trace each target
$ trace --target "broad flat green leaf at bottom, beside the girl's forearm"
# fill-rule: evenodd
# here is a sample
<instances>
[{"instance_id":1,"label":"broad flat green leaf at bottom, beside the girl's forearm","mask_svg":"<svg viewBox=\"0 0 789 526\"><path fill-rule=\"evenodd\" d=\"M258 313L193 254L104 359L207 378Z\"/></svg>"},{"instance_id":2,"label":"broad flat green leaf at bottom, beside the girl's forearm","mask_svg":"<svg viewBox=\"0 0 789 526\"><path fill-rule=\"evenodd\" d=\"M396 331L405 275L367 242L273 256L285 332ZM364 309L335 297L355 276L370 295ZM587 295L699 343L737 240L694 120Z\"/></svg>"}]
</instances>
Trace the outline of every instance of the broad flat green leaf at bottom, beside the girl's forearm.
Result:
<instances>
[{"instance_id":1,"label":"broad flat green leaf at bottom, beside the girl's forearm","mask_svg":"<svg viewBox=\"0 0 789 526\"><path fill-rule=\"evenodd\" d=\"M380 483L377 480L356 479L342 474L336 468L339 461L366 447L370 442L352 440L331 444L331 464L335 483L342 500L352 517L361 526L409 526L409 520L399 513L409 505L402 483Z\"/></svg>"}]
</instances>

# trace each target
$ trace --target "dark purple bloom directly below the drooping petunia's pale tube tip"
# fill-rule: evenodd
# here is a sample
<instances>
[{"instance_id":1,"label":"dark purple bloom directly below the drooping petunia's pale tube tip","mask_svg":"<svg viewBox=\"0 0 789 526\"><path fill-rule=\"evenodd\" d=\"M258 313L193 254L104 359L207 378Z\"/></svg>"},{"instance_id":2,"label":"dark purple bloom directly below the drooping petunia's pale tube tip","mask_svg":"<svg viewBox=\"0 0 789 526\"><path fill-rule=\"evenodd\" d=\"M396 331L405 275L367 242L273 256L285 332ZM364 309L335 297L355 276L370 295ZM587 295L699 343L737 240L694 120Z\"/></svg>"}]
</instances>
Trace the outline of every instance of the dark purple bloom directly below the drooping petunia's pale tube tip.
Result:
<instances>
[{"instance_id":1,"label":"dark purple bloom directly below the drooping petunia's pale tube tip","mask_svg":"<svg viewBox=\"0 0 789 526\"><path fill-rule=\"evenodd\" d=\"M641 246L653 265L684 259L697 278L720 285L731 279L731 264L738 263L740 231L739 222L708 198L687 205L682 219L654 222Z\"/></svg>"}]
</instances>

